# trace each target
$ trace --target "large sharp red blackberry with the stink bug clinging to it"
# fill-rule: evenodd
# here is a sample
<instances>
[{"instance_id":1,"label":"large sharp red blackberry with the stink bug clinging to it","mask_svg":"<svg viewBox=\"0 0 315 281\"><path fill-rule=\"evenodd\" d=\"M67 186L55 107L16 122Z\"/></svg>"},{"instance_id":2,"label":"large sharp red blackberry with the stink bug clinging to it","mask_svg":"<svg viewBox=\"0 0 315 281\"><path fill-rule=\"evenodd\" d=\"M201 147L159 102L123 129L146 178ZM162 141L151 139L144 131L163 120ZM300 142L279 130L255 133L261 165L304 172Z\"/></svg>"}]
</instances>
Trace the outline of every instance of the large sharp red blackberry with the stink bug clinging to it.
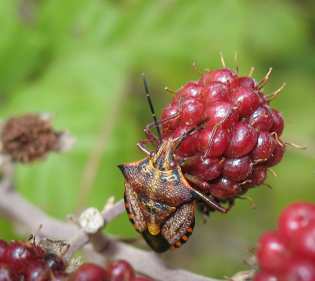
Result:
<instances>
[{"instance_id":1,"label":"large sharp red blackberry with the stink bug clinging to it","mask_svg":"<svg viewBox=\"0 0 315 281\"><path fill-rule=\"evenodd\" d=\"M260 92L268 74L259 87L261 83L238 77L231 69L209 71L174 92L163 110L162 119L168 118L162 122L163 141L176 140L202 123L202 130L195 130L178 146L175 160L195 188L219 201L261 185L266 170L284 155L284 144L278 139L284 120L269 106L283 87L268 100Z\"/></svg>"}]
</instances>

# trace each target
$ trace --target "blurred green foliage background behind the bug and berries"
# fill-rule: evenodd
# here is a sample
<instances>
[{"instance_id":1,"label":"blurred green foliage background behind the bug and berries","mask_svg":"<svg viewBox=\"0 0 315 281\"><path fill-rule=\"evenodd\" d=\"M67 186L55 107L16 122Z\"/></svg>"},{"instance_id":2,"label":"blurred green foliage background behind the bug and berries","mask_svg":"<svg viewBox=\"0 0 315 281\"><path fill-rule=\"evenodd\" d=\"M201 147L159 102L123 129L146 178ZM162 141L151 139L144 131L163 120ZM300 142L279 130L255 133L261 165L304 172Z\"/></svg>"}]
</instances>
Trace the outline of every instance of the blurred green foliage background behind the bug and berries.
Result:
<instances>
[{"instance_id":1,"label":"blurred green foliage background behind the bug and berries","mask_svg":"<svg viewBox=\"0 0 315 281\"><path fill-rule=\"evenodd\" d=\"M71 152L18 164L17 189L48 214L65 219L85 207L102 209L110 196L121 199L117 164L144 158L136 143L152 122L141 73L159 115L172 99L164 87L176 91L198 80L193 62L202 71L221 68L221 51L234 70L237 51L239 74L254 66L257 81L273 67L265 93L286 82L271 107L294 121L281 139L307 149L287 147L273 168L278 177L266 180L274 189L247 193L256 209L237 200L205 225L196 214L188 243L164 258L209 277L232 276L247 270L243 248L276 228L281 209L315 202L313 1L4 0L0 10L0 117L54 113L54 128L77 137ZM125 214L106 232L137 235ZM3 217L0 236L25 239Z\"/></svg>"}]
</instances>

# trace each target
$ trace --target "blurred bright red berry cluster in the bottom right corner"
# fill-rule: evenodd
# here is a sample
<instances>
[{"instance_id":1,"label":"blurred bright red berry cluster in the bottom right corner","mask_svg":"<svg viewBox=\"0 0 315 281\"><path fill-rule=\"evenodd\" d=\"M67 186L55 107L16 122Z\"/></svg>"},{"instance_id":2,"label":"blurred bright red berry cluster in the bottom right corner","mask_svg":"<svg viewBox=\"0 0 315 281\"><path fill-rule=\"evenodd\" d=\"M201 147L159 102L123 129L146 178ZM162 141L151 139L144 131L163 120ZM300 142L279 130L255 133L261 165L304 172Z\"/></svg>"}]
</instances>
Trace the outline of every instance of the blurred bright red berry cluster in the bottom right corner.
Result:
<instances>
[{"instance_id":1,"label":"blurred bright red berry cluster in the bottom right corner","mask_svg":"<svg viewBox=\"0 0 315 281\"><path fill-rule=\"evenodd\" d=\"M297 202L278 218L278 231L258 240L261 271L254 281L315 281L315 205Z\"/></svg>"}]
</instances>

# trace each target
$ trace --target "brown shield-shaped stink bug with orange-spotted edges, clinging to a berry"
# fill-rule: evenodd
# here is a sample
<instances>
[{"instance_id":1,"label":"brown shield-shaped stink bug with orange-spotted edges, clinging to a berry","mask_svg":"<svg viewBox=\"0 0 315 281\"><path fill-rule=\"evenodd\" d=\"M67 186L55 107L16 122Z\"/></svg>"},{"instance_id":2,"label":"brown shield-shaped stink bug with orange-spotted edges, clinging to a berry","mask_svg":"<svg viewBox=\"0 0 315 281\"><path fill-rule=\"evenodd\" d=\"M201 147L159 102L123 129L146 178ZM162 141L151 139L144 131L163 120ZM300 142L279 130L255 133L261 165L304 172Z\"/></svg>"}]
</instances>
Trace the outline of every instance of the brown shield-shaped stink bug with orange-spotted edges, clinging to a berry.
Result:
<instances>
[{"instance_id":1,"label":"brown shield-shaped stink bug with orange-spotted edges, clinging to a berry","mask_svg":"<svg viewBox=\"0 0 315 281\"><path fill-rule=\"evenodd\" d=\"M228 212L231 205L225 208L194 189L175 162L174 153L181 142L188 135L203 129L202 123L207 120L175 140L162 141L159 125L179 118L181 101L175 114L157 121L146 79L144 74L142 76L154 118L154 122L144 129L147 140L137 143L147 157L137 162L118 165L118 168L125 177L124 199L131 223L154 251L164 252L180 247L192 234L195 225L195 200L203 201L221 213ZM154 126L157 128L158 138L150 131ZM177 144L174 143L176 140ZM151 152L145 146L146 143L151 143L155 151Z\"/></svg>"}]
</instances>

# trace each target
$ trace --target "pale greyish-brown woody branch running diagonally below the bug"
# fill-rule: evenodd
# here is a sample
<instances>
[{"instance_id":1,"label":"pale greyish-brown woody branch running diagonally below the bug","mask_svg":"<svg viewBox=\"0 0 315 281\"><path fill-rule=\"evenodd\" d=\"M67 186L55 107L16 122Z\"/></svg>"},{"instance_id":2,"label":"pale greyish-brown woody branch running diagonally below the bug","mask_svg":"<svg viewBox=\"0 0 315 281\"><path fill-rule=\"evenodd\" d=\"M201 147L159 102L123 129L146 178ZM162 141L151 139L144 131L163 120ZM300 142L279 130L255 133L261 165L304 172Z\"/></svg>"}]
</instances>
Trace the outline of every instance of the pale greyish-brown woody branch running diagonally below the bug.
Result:
<instances>
[{"instance_id":1,"label":"pale greyish-brown woody branch running diagonally below the bug","mask_svg":"<svg viewBox=\"0 0 315 281\"><path fill-rule=\"evenodd\" d=\"M159 280L196 280L218 281L213 278L197 275L183 269L171 267L153 251L137 249L134 246L105 236L100 231L88 234L83 228L72 222L63 222L45 214L41 209L32 205L14 189L12 177L14 164L7 162L2 166L3 177L0 182L0 213L20 223L30 232L34 232L40 224L43 228L37 234L38 238L50 237L66 239L70 244L64 258L69 260L79 249L95 263L105 265L107 259L126 259L136 272ZM19 207L16 207L19 206ZM101 212L105 223L109 223L125 211L123 200ZM28 234L26 234L28 235Z\"/></svg>"}]
</instances>

